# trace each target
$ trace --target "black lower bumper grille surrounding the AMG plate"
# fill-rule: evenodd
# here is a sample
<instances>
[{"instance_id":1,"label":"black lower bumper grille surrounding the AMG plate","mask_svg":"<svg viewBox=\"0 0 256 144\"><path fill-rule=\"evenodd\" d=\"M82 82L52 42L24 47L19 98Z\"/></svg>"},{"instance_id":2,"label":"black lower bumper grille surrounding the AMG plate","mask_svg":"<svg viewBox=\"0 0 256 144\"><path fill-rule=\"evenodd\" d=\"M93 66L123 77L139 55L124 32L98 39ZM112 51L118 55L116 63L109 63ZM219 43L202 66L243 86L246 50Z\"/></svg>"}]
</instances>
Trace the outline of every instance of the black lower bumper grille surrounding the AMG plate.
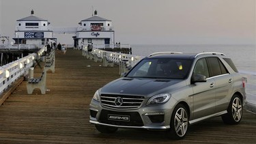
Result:
<instances>
[{"instance_id":1,"label":"black lower bumper grille surrounding the AMG plate","mask_svg":"<svg viewBox=\"0 0 256 144\"><path fill-rule=\"evenodd\" d=\"M108 119L108 115L128 115L130 116L130 121L112 121ZM100 113L100 123L113 124L116 126L143 126L143 121L141 116L137 112L117 112L117 111L107 111L102 110Z\"/></svg>"}]
</instances>

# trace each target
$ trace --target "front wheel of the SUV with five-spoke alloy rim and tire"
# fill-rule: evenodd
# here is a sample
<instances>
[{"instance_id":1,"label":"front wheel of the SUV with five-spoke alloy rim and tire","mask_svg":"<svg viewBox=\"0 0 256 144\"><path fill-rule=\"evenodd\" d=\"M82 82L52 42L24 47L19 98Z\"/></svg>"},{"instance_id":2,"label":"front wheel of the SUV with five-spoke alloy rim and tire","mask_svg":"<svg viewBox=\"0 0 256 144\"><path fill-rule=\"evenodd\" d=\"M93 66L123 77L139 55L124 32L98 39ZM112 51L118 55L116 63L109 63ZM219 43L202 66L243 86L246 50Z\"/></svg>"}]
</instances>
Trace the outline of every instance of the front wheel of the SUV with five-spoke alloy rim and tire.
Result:
<instances>
[{"instance_id":1,"label":"front wheel of the SUV with five-spoke alloy rim and tire","mask_svg":"<svg viewBox=\"0 0 256 144\"><path fill-rule=\"evenodd\" d=\"M188 110L183 104L177 104L171 115L168 136L171 139L184 139L188 130Z\"/></svg>"}]
</instances>

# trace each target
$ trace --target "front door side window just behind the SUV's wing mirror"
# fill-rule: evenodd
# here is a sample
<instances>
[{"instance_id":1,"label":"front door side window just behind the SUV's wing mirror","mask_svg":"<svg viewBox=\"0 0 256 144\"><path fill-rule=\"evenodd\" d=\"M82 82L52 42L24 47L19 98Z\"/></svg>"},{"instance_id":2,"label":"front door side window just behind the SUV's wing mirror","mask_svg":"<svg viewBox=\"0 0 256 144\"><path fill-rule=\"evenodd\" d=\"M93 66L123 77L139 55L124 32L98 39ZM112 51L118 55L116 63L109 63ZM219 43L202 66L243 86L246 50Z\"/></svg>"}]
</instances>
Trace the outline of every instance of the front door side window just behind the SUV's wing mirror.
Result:
<instances>
[{"instance_id":1,"label":"front door side window just behind the SUV's wing mirror","mask_svg":"<svg viewBox=\"0 0 256 144\"><path fill-rule=\"evenodd\" d=\"M206 76L206 78L209 78L209 70L207 66L206 59L199 59L197 63L195 64L195 68L193 73L196 74L202 74Z\"/></svg>"}]
</instances>

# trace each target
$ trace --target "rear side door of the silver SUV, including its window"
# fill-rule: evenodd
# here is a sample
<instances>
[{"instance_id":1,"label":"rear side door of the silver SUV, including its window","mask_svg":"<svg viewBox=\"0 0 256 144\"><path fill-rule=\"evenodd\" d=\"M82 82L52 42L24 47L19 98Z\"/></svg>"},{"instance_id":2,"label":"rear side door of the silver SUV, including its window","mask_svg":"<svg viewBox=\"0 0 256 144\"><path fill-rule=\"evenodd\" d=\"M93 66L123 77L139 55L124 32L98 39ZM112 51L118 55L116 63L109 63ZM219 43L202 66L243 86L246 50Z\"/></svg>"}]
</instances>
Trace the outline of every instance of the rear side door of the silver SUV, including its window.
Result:
<instances>
[{"instance_id":1,"label":"rear side door of the silver SUV, including its window","mask_svg":"<svg viewBox=\"0 0 256 144\"><path fill-rule=\"evenodd\" d=\"M233 78L218 57L208 57L216 89L216 113L227 110L233 91Z\"/></svg>"}]
</instances>

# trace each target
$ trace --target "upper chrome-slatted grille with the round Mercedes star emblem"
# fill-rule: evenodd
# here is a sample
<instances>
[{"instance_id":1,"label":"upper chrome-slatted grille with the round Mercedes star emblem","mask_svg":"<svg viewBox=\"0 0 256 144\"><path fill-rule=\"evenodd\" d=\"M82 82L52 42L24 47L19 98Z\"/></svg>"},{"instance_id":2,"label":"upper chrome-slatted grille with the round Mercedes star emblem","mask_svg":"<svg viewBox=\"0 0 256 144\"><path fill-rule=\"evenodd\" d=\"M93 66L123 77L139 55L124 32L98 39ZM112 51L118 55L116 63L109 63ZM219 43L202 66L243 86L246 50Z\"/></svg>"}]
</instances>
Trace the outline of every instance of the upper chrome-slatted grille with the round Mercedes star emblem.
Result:
<instances>
[{"instance_id":1,"label":"upper chrome-slatted grille with the round Mercedes star emblem","mask_svg":"<svg viewBox=\"0 0 256 144\"><path fill-rule=\"evenodd\" d=\"M120 100L121 98L121 100ZM119 100L118 100L119 99ZM100 100L102 106L115 109L137 109L141 106L143 96L126 96L126 95L111 95L101 94Z\"/></svg>"}]
</instances>

